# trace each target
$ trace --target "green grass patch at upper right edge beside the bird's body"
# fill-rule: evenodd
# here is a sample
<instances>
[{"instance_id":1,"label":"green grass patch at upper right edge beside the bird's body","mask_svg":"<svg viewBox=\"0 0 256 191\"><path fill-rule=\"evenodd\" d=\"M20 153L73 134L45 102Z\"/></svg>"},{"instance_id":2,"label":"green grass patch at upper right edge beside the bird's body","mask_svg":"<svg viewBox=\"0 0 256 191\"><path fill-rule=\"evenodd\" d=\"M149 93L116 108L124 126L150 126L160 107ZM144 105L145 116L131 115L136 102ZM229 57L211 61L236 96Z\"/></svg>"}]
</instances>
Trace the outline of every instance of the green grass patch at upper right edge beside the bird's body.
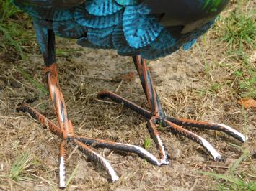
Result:
<instances>
[{"instance_id":1,"label":"green grass patch at upper right edge beside the bird's body","mask_svg":"<svg viewBox=\"0 0 256 191\"><path fill-rule=\"evenodd\" d=\"M221 40L227 43L227 56L231 61L241 63L234 71L237 94L244 98L256 98L256 66L248 58L256 50L255 9L252 1L239 0L227 17L221 17L216 27Z\"/></svg>"}]
</instances>

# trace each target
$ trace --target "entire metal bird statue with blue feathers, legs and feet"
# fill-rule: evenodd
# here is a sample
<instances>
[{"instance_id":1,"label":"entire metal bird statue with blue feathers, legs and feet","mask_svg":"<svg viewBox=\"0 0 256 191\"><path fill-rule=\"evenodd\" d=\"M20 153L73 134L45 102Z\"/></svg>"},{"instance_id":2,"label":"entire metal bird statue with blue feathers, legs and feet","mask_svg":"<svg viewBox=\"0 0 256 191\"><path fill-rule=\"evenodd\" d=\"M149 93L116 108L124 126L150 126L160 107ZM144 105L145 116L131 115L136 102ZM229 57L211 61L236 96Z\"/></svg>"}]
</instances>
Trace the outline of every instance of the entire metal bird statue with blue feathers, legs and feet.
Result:
<instances>
[{"instance_id":1,"label":"entire metal bird statue with blue feathers, legs and feet","mask_svg":"<svg viewBox=\"0 0 256 191\"><path fill-rule=\"evenodd\" d=\"M46 66L45 74L53 109L58 118L58 126L30 106L22 105L18 110L27 111L61 138L60 187L66 187L65 148L68 142L78 146L81 152L101 164L110 175L112 182L115 182L118 180L115 170L104 157L92 150L92 146L136 153L151 164L160 166L169 162L167 151L157 131L159 124L197 142L215 160L221 159L216 149L206 139L183 126L223 131L239 141L247 140L243 134L224 124L167 116L154 88L149 68L145 64L145 59L164 57L179 50L180 47L183 50L190 49L198 37L211 28L229 0L13 0L13 2L33 19L37 42ZM119 55L133 57L150 111L109 91L99 93L99 96L123 103L146 119L159 157L154 157L140 146L74 134L63 94L58 85L55 35L77 39L77 43L83 47L114 49Z\"/></svg>"}]
</instances>

